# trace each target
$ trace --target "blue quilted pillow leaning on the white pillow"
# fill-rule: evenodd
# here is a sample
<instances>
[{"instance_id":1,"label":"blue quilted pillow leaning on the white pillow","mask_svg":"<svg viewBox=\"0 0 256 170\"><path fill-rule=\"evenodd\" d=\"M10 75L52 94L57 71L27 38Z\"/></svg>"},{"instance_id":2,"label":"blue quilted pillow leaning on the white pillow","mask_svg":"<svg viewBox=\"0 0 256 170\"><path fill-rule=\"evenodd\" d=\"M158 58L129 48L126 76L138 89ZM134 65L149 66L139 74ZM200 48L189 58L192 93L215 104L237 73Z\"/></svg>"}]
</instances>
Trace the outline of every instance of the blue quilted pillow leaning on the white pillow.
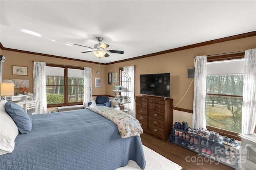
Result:
<instances>
[{"instance_id":1,"label":"blue quilted pillow leaning on the white pillow","mask_svg":"<svg viewBox=\"0 0 256 170\"><path fill-rule=\"evenodd\" d=\"M14 102L7 102L5 110L16 123L20 133L29 133L32 129L32 119L25 110Z\"/></svg>"}]
</instances>

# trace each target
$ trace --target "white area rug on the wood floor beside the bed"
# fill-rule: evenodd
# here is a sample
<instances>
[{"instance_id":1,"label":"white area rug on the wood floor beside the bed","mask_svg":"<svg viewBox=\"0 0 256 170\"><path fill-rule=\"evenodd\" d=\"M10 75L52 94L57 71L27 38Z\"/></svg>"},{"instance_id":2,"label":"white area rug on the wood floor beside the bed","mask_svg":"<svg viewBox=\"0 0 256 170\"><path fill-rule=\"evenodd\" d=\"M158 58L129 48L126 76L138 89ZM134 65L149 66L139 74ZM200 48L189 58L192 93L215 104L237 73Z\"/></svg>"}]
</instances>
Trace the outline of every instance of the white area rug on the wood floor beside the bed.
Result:
<instances>
[{"instance_id":1,"label":"white area rug on the wood floor beside the bed","mask_svg":"<svg viewBox=\"0 0 256 170\"><path fill-rule=\"evenodd\" d=\"M145 170L181 170L182 167L164 156L158 154L154 150L143 145L144 156L146 160ZM117 168L116 170L141 170L133 160L129 160L126 166Z\"/></svg>"}]
</instances>

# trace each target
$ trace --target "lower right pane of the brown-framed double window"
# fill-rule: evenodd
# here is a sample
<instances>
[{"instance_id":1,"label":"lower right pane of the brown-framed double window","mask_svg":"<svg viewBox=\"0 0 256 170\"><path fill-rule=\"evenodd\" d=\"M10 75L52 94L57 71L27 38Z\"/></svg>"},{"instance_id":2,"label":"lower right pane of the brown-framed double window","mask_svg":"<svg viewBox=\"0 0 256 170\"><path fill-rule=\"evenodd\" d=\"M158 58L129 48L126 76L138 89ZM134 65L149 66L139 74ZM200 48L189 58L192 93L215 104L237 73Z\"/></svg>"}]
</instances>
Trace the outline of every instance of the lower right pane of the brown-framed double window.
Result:
<instances>
[{"instance_id":1,"label":"lower right pane of the brown-framed double window","mask_svg":"<svg viewBox=\"0 0 256 170\"><path fill-rule=\"evenodd\" d=\"M68 86L68 103L84 101L84 86Z\"/></svg>"}]
</instances>

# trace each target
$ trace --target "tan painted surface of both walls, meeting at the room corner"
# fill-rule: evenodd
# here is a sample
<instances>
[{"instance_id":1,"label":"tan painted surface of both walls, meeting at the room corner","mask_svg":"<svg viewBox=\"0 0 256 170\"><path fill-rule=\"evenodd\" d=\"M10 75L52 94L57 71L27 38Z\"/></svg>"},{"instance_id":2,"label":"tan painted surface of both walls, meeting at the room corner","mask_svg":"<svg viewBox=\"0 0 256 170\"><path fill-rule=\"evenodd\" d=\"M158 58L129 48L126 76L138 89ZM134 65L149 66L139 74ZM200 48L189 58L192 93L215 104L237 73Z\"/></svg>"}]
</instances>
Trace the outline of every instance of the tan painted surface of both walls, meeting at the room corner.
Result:
<instances>
[{"instance_id":1,"label":"tan painted surface of both walls, meeting at the room corner","mask_svg":"<svg viewBox=\"0 0 256 170\"><path fill-rule=\"evenodd\" d=\"M58 59L53 57L45 57L40 55L32 55L27 53L18 53L14 51L1 50L1 55L6 57L3 64L3 79L29 79L30 92L32 92L33 80L33 62L43 61L46 63L67 64L73 66L87 66L92 67L92 86L93 95L109 95L113 96L113 85L108 84L108 72L117 72L118 67L135 65L135 95L140 95L140 74L147 73L166 73L171 74L171 97L173 106L176 106L181 98L184 96L192 78L188 78L187 69L194 67L194 57L199 55L213 55L220 53L230 53L236 51L244 51L247 49L256 48L256 36L212 45L205 45L192 49L186 49L173 53L147 57L143 59L136 59L132 61L120 62L116 64L107 64L100 66L100 76L102 78L102 88L94 88L94 78L97 78L96 71L98 64L86 63L80 61L71 61L66 59ZM28 66L28 76L12 75L12 65ZM188 90L184 99L178 104L177 107L182 109L193 108L193 93L194 82Z\"/></svg>"}]
</instances>

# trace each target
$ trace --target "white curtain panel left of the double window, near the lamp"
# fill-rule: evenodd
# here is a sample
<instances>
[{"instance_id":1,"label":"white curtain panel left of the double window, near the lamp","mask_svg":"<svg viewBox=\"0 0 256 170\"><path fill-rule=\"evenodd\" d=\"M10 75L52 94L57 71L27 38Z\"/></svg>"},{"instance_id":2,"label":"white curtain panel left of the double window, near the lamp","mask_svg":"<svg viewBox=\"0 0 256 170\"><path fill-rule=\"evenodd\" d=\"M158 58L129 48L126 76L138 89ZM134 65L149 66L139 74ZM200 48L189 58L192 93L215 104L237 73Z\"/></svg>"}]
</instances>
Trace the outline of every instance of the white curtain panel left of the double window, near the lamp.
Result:
<instances>
[{"instance_id":1,"label":"white curtain panel left of the double window, near the lamp","mask_svg":"<svg viewBox=\"0 0 256 170\"><path fill-rule=\"evenodd\" d=\"M34 61L33 100L38 100L36 114L47 113L46 100L46 63Z\"/></svg>"}]
</instances>

